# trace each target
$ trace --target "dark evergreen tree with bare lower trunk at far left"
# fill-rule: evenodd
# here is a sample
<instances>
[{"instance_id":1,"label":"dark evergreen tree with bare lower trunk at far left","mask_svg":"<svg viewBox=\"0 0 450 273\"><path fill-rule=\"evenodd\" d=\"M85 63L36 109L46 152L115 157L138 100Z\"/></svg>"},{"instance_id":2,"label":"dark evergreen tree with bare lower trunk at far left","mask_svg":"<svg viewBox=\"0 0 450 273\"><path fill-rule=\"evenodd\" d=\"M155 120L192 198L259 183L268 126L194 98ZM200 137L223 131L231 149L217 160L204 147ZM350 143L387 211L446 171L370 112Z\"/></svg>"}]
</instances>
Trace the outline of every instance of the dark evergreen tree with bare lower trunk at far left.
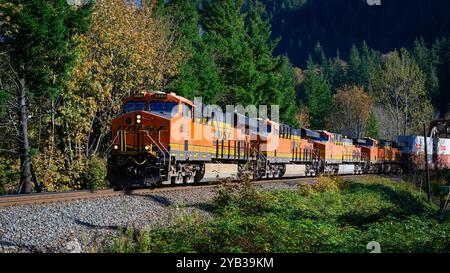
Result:
<instances>
[{"instance_id":1,"label":"dark evergreen tree with bare lower trunk at far left","mask_svg":"<svg viewBox=\"0 0 450 273\"><path fill-rule=\"evenodd\" d=\"M74 36L87 29L91 5L69 6L66 0L2 1L1 48L15 75L19 102L21 192L30 193L31 157L28 132L30 98L53 102L76 59Z\"/></svg>"}]
</instances>

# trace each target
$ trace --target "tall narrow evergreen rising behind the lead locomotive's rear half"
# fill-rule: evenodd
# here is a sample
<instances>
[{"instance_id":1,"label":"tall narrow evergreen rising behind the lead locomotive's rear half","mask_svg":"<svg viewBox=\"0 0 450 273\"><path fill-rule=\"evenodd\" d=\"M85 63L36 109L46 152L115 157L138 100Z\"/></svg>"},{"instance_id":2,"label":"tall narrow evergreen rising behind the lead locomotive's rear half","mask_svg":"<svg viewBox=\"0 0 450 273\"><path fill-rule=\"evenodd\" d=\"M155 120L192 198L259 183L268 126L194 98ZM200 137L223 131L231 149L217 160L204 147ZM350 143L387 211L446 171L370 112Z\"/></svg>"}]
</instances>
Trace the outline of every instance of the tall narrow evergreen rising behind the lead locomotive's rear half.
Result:
<instances>
[{"instance_id":1,"label":"tall narrow evergreen rising behind the lead locomotive's rear half","mask_svg":"<svg viewBox=\"0 0 450 273\"><path fill-rule=\"evenodd\" d=\"M211 45L224 90L219 105L255 104L259 79L249 44L244 0L211 1L205 5L205 41Z\"/></svg>"}]
</instances>

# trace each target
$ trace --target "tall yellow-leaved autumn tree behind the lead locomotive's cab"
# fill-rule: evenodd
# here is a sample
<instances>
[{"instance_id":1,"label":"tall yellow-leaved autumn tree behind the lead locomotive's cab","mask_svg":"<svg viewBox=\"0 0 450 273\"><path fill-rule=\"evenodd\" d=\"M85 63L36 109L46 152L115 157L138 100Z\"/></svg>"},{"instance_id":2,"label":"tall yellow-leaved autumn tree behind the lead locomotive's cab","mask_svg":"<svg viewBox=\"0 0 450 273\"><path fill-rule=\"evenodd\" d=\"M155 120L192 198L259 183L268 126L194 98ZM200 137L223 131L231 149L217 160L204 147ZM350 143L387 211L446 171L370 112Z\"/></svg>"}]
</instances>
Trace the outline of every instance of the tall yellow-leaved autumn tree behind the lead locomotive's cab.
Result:
<instances>
[{"instance_id":1,"label":"tall yellow-leaved autumn tree behind the lead locomotive's cab","mask_svg":"<svg viewBox=\"0 0 450 273\"><path fill-rule=\"evenodd\" d=\"M61 126L67 145L86 157L107 142L124 97L161 90L178 73L183 54L175 47L172 21L156 16L155 4L98 0L89 32L79 37L81 57L67 86Z\"/></svg>"}]
</instances>

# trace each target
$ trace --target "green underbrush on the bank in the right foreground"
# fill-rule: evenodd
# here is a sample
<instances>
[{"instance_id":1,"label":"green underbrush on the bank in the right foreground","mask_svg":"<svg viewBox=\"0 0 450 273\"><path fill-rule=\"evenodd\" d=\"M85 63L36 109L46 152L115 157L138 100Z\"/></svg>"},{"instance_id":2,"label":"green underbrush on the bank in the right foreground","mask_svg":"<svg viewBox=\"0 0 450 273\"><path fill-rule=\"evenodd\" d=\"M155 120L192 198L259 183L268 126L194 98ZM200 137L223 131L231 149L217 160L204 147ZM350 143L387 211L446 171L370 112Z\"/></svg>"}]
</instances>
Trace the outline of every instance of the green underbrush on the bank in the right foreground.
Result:
<instances>
[{"instance_id":1,"label":"green underbrush on the bank in the right foreground","mask_svg":"<svg viewBox=\"0 0 450 273\"><path fill-rule=\"evenodd\" d=\"M225 183L213 217L182 214L173 226L127 230L105 252L449 252L450 224L411 184L322 177L299 191Z\"/></svg>"}]
</instances>

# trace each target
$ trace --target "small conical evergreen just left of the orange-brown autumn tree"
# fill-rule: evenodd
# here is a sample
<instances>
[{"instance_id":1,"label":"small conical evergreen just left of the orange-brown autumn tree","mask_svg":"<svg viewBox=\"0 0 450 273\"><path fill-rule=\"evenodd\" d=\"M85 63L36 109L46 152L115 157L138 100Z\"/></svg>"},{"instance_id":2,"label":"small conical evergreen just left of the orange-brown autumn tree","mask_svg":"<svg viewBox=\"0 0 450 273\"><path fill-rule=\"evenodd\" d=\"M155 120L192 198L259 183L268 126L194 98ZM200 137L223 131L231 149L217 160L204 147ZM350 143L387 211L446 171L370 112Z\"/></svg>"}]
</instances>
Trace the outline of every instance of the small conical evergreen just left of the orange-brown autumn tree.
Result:
<instances>
[{"instance_id":1,"label":"small conical evergreen just left of the orange-brown autumn tree","mask_svg":"<svg viewBox=\"0 0 450 273\"><path fill-rule=\"evenodd\" d=\"M305 71L301 96L311 117L311 129L325 129L325 121L333 105L330 89L329 83L310 59Z\"/></svg>"}]
</instances>

